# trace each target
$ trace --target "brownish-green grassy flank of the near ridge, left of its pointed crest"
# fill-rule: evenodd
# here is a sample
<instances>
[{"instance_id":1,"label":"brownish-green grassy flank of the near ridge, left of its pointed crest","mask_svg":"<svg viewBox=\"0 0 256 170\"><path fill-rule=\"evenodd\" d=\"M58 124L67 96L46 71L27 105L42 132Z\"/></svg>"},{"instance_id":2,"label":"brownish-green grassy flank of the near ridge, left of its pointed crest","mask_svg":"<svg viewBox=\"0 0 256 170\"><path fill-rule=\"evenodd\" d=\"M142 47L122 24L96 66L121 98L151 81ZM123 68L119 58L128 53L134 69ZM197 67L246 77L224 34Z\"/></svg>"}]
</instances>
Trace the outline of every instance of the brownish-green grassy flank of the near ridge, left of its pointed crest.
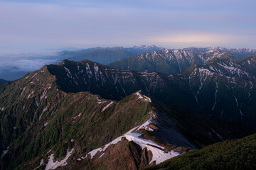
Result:
<instances>
[{"instance_id":1,"label":"brownish-green grassy flank of the near ridge, left of its pointed crest","mask_svg":"<svg viewBox=\"0 0 256 170\"><path fill-rule=\"evenodd\" d=\"M38 159L40 154L46 154L49 149L57 159L65 156L65 150L74 145L75 155L89 152L144 123L152 108L132 95L112 103L102 112L102 108L110 101L98 103L98 100L98 96L87 92L68 94L53 109L46 111L41 121L14 140L9 149L14 154L6 154L1 161L13 159L10 169L14 169L23 162L30 162L35 157ZM48 124L44 126L45 123ZM71 139L75 142L70 142ZM34 161L36 164L37 160ZM28 167L31 166L23 164L17 169Z\"/></svg>"}]
</instances>

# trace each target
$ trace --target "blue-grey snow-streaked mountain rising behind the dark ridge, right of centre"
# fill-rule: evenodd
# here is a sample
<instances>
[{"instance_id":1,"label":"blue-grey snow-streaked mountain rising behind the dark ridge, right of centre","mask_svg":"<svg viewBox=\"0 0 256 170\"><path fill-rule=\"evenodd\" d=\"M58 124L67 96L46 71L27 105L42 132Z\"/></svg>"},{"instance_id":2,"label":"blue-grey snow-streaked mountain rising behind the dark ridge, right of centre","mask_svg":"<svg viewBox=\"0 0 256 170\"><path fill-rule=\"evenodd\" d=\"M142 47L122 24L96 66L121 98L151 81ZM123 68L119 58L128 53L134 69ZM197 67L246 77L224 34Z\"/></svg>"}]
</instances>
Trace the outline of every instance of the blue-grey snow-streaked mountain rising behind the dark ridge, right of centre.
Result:
<instances>
[{"instance_id":1,"label":"blue-grey snow-streaked mountain rising behind the dark ridge, right of centre","mask_svg":"<svg viewBox=\"0 0 256 170\"><path fill-rule=\"evenodd\" d=\"M158 50L146 52L142 55L129 57L119 62L108 64L117 69L149 70L171 74L183 72L193 64L203 64L213 58L237 58L230 52L221 50L208 50L200 55L187 50Z\"/></svg>"}]
</instances>

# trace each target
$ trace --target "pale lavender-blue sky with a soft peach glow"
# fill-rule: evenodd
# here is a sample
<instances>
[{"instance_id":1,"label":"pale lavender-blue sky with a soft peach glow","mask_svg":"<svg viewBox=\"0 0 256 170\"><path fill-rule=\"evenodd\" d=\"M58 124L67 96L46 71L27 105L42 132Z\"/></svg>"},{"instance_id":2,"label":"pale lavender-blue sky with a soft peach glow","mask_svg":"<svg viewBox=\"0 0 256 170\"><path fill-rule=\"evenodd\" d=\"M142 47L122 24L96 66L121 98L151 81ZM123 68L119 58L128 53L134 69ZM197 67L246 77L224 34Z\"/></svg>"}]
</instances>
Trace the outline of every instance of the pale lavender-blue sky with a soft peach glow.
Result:
<instances>
[{"instance_id":1,"label":"pale lavender-blue sky with a soft peach glow","mask_svg":"<svg viewBox=\"0 0 256 170\"><path fill-rule=\"evenodd\" d=\"M255 0L0 0L0 52L61 47L256 48Z\"/></svg>"}]
</instances>

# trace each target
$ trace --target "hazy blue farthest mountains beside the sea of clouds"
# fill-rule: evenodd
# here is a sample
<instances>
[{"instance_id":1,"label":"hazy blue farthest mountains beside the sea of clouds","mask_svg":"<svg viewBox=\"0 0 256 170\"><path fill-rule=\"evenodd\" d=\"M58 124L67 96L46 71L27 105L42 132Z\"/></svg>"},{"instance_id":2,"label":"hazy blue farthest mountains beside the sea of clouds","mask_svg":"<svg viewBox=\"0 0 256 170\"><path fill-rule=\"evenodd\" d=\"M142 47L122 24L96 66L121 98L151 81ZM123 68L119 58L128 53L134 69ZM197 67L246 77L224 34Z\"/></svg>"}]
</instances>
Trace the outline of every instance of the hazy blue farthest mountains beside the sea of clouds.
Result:
<instances>
[{"instance_id":1,"label":"hazy blue farthest mountains beside the sea of clouds","mask_svg":"<svg viewBox=\"0 0 256 170\"><path fill-rule=\"evenodd\" d=\"M80 61L83 59L99 62L101 64L109 64L119 61L133 55L139 55L144 52L153 52L161 47L152 46L134 46L134 47L95 47L85 50L62 51L58 52L62 59Z\"/></svg>"}]
</instances>

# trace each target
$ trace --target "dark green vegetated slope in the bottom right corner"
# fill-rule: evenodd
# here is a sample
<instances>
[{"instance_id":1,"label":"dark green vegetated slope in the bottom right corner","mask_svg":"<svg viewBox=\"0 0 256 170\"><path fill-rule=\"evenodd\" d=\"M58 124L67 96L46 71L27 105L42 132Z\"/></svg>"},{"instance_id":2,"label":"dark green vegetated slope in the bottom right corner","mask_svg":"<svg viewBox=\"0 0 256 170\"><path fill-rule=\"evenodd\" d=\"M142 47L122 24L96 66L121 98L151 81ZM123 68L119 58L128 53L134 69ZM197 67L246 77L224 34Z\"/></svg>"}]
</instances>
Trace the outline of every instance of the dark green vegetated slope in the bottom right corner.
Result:
<instances>
[{"instance_id":1,"label":"dark green vegetated slope in the bottom right corner","mask_svg":"<svg viewBox=\"0 0 256 170\"><path fill-rule=\"evenodd\" d=\"M150 169L256 169L256 135L227 140L174 157Z\"/></svg>"}]
</instances>

